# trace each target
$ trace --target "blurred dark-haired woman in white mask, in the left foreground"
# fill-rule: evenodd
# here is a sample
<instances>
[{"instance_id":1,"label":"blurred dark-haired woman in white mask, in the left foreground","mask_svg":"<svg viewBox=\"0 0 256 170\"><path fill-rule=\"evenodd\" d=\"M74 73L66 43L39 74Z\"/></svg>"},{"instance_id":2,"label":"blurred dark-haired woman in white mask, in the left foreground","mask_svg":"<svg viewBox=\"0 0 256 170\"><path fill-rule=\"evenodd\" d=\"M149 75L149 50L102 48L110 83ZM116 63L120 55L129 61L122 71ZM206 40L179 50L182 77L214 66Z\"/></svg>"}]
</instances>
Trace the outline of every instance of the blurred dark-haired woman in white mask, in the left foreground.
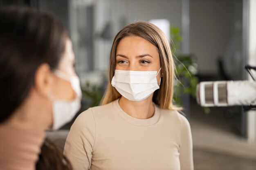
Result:
<instances>
[{"instance_id":1,"label":"blurred dark-haired woman in white mask, in the left foreground","mask_svg":"<svg viewBox=\"0 0 256 170\"><path fill-rule=\"evenodd\" d=\"M45 130L63 126L81 105L72 42L58 20L32 9L1 8L0 25L0 169L34 170ZM55 170L70 169L62 155L54 160L61 160Z\"/></svg>"}]
</instances>

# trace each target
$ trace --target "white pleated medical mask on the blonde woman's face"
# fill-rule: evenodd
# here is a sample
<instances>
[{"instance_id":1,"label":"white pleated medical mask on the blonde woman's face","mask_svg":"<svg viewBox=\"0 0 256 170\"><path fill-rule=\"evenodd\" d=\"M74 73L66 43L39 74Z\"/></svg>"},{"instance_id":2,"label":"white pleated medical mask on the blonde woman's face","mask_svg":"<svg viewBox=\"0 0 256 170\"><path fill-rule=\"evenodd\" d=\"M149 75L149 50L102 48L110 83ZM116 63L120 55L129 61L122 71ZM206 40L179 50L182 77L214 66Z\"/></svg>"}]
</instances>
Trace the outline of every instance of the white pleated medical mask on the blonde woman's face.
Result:
<instances>
[{"instance_id":1,"label":"white pleated medical mask on the blonde woman's face","mask_svg":"<svg viewBox=\"0 0 256 170\"><path fill-rule=\"evenodd\" d=\"M126 99L139 102L148 98L154 91L159 89L161 77L159 85L157 84L156 77L159 71L115 70L111 84Z\"/></svg>"}]
</instances>

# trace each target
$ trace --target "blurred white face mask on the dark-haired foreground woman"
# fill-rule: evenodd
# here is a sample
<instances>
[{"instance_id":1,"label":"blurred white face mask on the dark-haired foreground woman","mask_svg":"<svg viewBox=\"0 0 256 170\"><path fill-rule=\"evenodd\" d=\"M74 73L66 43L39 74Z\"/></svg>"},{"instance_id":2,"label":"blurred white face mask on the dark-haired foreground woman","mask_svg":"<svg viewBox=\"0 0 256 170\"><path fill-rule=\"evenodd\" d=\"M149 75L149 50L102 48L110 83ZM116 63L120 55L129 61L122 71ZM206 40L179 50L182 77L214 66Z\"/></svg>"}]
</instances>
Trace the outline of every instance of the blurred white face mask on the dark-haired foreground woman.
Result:
<instances>
[{"instance_id":1,"label":"blurred white face mask on the dark-haired foreground woman","mask_svg":"<svg viewBox=\"0 0 256 170\"><path fill-rule=\"evenodd\" d=\"M49 93L48 98L52 101L52 114L53 125L52 130L57 130L61 126L70 122L76 113L81 108L82 91L80 87L80 81L78 76L70 76L59 70L54 71L54 74L61 79L65 79L70 82L72 89L76 93L76 98L72 101L60 100ZM65 93L65 92L63 92Z\"/></svg>"}]
</instances>

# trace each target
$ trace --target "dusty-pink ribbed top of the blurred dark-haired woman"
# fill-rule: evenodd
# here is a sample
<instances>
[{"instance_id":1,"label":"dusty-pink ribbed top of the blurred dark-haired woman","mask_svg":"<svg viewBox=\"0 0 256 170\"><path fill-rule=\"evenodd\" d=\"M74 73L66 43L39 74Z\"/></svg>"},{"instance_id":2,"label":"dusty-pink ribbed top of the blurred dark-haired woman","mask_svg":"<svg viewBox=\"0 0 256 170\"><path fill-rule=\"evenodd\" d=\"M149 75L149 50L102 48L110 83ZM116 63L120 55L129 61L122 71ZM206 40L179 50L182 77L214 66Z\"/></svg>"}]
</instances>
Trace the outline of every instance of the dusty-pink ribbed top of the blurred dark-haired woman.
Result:
<instances>
[{"instance_id":1,"label":"dusty-pink ribbed top of the blurred dark-haired woman","mask_svg":"<svg viewBox=\"0 0 256 170\"><path fill-rule=\"evenodd\" d=\"M0 125L0 170L35 170L45 134Z\"/></svg>"}]
</instances>

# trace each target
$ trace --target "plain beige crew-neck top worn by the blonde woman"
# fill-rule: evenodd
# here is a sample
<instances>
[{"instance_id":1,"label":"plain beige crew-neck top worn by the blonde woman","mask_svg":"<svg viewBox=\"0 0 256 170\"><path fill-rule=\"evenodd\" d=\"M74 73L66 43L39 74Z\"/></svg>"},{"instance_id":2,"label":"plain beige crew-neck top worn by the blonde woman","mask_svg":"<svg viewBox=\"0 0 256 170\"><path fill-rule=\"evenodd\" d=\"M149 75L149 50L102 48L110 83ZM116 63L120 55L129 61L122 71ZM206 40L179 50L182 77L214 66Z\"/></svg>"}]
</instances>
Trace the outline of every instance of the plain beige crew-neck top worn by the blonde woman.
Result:
<instances>
[{"instance_id":1,"label":"plain beige crew-neck top worn by the blonde woman","mask_svg":"<svg viewBox=\"0 0 256 170\"><path fill-rule=\"evenodd\" d=\"M126 114L118 100L77 117L64 155L74 170L193 170L191 129L177 111L149 119Z\"/></svg>"}]
</instances>

